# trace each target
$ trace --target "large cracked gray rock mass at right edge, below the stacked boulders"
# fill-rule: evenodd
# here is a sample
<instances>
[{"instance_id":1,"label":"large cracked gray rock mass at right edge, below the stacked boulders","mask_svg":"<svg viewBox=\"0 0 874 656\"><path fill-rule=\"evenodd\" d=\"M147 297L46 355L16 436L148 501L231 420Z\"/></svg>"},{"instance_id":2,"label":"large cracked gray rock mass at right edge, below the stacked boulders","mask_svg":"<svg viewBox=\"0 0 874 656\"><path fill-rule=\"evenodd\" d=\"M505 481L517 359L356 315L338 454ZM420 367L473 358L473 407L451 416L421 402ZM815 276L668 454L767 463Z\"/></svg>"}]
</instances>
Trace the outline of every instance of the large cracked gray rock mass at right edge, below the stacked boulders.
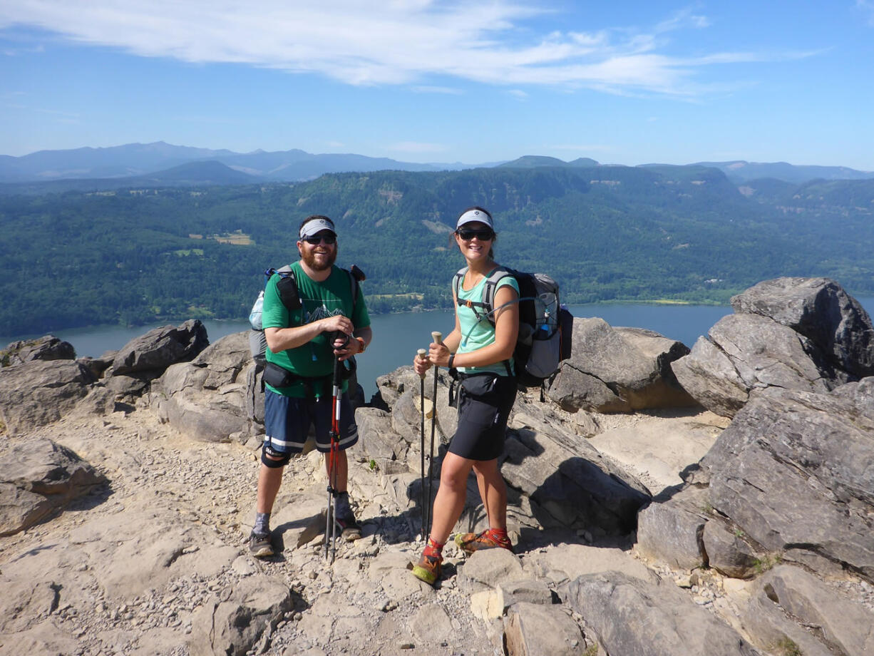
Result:
<instances>
[{"instance_id":1,"label":"large cracked gray rock mass at right edge, below the stacked boulders","mask_svg":"<svg viewBox=\"0 0 874 656\"><path fill-rule=\"evenodd\" d=\"M829 394L753 394L690 485L640 514L638 548L728 576L753 576L778 554L874 581L872 393L870 377Z\"/></svg>"}]
</instances>

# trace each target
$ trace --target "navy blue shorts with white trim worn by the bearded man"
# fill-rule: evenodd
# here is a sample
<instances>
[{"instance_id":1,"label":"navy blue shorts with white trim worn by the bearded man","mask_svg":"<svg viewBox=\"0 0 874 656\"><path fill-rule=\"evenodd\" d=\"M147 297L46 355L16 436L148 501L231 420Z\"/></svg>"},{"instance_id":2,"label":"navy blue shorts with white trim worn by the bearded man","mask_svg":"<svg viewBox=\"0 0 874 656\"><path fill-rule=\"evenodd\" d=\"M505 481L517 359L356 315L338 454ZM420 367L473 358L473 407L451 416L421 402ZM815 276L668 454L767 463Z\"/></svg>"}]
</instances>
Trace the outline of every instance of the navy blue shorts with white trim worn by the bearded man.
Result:
<instances>
[{"instance_id":1,"label":"navy blue shorts with white trim worn by the bearded man","mask_svg":"<svg viewBox=\"0 0 874 656\"><path fill-rule=\"evenodd\" d=\"M343 394L339 403L339 447L345 450L358 441L358 427L349 396ZM299 399L265 390L264 445L280 453L300 453L307 441L309 427L315 426L316 449L322 453L329 452L332 407L333 399L330 396Z\"/></svg>"}]
</instances>

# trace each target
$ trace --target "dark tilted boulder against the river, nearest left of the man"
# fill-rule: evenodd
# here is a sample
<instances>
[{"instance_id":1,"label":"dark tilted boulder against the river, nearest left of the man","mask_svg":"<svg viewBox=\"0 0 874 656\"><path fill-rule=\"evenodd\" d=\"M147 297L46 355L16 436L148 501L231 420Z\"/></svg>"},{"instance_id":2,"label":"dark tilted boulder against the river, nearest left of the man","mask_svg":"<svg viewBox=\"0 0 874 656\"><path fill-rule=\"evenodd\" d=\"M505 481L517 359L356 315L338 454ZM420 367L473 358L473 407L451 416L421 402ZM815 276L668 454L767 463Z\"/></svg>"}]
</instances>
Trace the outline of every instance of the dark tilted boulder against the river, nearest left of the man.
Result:
<instances>
[{"instance_id":1,"label":"dark tilted boulder against the river, nearest left of the man","mask_svg":"<svg viewBox=\"0 0 874 656\"><path fill-rule=\"evenodd\" d=\"M206 327L199 319L154 328L119 349L113 361L113 374L160 375L170 365L194 359L209 343Z\"/></svg>"}]
</instances>

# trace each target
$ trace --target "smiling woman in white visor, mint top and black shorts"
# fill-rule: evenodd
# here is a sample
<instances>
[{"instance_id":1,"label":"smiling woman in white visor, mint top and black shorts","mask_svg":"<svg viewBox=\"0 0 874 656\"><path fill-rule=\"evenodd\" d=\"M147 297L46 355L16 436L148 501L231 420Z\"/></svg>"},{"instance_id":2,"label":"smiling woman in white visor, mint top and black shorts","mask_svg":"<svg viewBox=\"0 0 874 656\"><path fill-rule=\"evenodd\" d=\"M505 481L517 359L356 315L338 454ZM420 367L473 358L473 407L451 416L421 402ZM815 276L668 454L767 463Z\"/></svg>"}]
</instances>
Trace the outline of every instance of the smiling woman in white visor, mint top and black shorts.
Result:
<instances>
[{"instance_id":1,"label":"smiling woman in white visor, mint top and black shorts","mask_svg":"<svg viewBox=\"0 0 874 656\"><path fill-rule=\"evenodd\" d=\"M496 234L491 214L482 207L466 209L456 222L454 239L468 263L457 285L457 297L453 290L455 327L442 344L431 345L427 358L417 357L413 361L420 376L437 365L457 367L461 377L458 427L440 469L431 534L413 567L413 576L431 585L440 578L443 545L464 509L471 469L489 517L489 529L481 534L457 534L455 543L468 553L483 548L511 549L507 536L507 487L497 458L503 452L507 417L516 401L512 367L519 323L519 287L512 276L501 279L495 291L496 311L491 321L482 311L464 305L468 300L481 301L484 283L499 266L493 259Z\"/></svg>"}]
</instances>

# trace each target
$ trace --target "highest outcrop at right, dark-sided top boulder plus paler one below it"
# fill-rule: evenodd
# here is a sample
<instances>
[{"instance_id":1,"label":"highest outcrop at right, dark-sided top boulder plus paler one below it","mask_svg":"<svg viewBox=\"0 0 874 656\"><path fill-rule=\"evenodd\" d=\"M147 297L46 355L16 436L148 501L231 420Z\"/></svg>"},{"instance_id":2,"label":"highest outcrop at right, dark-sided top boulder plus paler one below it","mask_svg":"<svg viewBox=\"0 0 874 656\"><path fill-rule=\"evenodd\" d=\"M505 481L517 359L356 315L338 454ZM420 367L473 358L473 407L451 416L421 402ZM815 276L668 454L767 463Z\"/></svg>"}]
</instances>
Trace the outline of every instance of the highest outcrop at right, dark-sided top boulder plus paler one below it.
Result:
<instances>
[{"instance_id":1,"label":"highest outcrop at right, dark-sided top boulder plus paler one below it","mask_svg":"<svg viewBox=\"0 0 874 656\"><path fill-rule=\"evenodd\" d=\"M756 389L822 393L871 375L871 318L833 281L766 281L733 297L732 307L671 364L689 394L719 415L734 416Z\"/></svg>"}]
</instances>

